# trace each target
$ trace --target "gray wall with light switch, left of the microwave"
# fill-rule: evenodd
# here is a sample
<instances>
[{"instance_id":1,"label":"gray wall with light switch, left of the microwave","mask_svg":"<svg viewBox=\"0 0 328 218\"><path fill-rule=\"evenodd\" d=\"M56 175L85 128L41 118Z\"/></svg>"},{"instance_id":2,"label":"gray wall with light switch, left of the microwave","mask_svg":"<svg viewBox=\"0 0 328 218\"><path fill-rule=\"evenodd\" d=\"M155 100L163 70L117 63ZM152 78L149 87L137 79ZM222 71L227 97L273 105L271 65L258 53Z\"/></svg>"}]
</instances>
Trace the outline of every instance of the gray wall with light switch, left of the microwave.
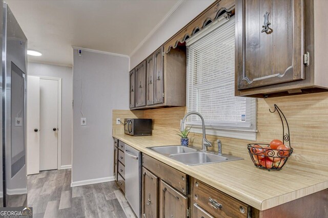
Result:
<instances>
[{"instance_id":1,"label":"gray wall with light switch, left of the microwave","mask_svg":"<svg viewBox=\"0 0 328 218\"><path fill-rule=\"evenodd\" d=\"M74 50L72 182L113 176L112 110L129 108L128 72L128 57Z\"/></svg>"}]
</instances>

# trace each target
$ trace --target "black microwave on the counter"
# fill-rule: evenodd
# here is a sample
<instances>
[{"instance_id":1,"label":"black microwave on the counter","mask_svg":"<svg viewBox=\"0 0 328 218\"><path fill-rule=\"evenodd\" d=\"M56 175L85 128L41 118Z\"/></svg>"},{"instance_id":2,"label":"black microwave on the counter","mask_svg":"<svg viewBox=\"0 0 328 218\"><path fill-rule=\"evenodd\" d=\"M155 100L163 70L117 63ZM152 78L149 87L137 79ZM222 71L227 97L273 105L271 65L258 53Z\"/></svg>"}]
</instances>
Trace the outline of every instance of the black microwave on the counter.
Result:
<instances>
[{"instance_id":1,"label":"black microwave on the counter","mask_svg":"<svg viewBox=\"0 0 328 218\"><path fill-rule=\"evenodd\" d=\"M124 133L131 136L151 136L152 119L124 119Z\"/></svg>"}]
</instances>

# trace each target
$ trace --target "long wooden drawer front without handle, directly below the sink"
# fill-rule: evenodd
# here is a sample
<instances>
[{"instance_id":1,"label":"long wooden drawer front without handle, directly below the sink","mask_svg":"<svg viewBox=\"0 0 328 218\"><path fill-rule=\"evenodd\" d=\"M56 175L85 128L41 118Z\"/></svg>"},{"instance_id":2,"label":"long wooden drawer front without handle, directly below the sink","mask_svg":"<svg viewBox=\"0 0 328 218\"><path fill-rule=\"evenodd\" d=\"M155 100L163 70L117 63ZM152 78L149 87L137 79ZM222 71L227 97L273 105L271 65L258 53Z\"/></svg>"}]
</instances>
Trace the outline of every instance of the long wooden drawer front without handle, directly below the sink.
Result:
<instances>
[{"instance_id":1,"label":"long wooden drawer front without handle, directly below the sink","mask_svg":"<svg viewBox=\"0 0 328 218\"><path fill-rule=\"evenodd\" d=\"M176 170L145 154L142 154L142 166L155 173L157 177L183 194L188 194L188 177L186 173L180 172L179 170Z\"/></svg>"}]
</instances>

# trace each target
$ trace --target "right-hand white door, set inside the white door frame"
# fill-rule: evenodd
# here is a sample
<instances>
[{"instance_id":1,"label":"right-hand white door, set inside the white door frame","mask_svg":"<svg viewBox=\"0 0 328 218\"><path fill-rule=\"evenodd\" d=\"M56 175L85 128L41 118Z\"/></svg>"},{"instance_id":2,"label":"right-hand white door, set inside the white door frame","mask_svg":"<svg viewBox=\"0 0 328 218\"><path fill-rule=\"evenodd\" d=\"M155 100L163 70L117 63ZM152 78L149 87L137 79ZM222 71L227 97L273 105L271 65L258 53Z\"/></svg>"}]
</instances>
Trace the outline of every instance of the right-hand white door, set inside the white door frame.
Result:
<instances>
[{"instance_id":1,"label":"right-hand white door, set inside the white door frame","mask_svg":"<svg viewBox=\"0 0 328 218\"><path fill-rule=\"evenodd\" d=\"M40 170L57 169L58 80L40 78Z\"/></svg>"}]
</instances>

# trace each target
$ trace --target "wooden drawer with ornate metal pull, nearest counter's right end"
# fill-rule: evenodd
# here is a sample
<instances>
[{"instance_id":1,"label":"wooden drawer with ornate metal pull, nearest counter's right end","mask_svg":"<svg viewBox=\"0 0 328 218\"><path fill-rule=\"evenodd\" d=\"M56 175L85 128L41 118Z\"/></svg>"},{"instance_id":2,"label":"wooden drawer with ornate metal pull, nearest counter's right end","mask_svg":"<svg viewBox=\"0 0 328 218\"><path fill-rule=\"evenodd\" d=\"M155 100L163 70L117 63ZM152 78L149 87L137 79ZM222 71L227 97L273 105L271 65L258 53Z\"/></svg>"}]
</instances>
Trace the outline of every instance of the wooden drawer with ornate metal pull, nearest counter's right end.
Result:
<instances>
[{"instance_id":1,"label":"wooden drawer with ornate metal pull, nearest counter's right end","mask_svg":"<svg viewBox=\"0 0 328 218\"><path fill-rule=\"evenodd\" d=\"M250 208L198 180L193 183L193 201L215 217L247 217Z\"/></svg>"}]
</instances>

